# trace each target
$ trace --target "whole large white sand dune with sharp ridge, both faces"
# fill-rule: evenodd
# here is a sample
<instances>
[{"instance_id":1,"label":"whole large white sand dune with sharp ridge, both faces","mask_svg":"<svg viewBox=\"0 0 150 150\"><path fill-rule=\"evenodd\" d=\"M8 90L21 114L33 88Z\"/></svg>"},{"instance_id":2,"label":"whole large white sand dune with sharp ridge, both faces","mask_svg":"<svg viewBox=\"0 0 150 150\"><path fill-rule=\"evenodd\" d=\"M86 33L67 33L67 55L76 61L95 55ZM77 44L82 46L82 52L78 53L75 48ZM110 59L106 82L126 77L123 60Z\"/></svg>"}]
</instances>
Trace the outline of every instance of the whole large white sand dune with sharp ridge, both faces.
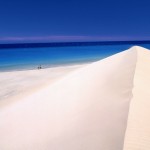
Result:
<instances>
[{"instance_id":1,"label":"whole large white sand dune with sharp ridge, both faces","mask_svg":"<svg viewBox=\"0 0 150 150\"><path fill-rule=\"evenodd\" d=\"M133 47L2 107L0 150L148 150L149 53Z\"/></svg>"}]
</instances>

